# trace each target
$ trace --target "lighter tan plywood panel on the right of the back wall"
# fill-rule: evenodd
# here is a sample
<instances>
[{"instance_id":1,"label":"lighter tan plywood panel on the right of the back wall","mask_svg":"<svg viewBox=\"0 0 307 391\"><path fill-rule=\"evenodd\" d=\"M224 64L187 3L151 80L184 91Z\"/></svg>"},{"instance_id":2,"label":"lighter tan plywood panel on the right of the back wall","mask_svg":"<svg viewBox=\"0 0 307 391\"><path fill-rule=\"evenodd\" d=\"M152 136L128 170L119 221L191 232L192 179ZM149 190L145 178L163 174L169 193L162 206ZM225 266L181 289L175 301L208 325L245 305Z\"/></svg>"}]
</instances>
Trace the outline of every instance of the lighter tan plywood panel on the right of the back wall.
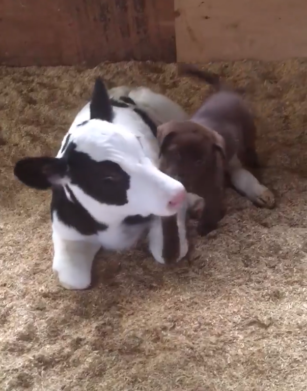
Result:
<instances>
[{"instance_id":1,"label":"lighter tan plywood panel on the right of the back wall","mask_svg":"<svg viewBox=\"0 0 307 391\"><path fill-rule=\"evenodd\" d=\"M178 62L307 56L306 0L175 0Z\"/></svg>"}]
</instances>

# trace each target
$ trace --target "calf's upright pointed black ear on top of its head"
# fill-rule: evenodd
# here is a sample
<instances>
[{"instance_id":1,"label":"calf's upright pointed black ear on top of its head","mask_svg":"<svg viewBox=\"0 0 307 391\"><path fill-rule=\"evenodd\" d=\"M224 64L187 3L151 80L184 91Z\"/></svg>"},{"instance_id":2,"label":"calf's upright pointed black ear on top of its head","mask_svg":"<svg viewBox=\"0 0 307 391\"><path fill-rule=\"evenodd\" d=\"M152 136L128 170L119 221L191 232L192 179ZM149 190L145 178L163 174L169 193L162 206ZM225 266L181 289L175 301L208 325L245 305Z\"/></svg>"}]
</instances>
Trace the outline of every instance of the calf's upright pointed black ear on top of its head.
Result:
<instances>
[{"instance_id":1,"label":"calf's upright pointed black ear on top of its head","mask_svg":"<svg viewBox=\"0 0 307 391\"><path fill-rule=\"evenodd\" d=\"M101 119L107 122L112 122L113 119L113 107L104 82L100 77L97 77L93 89L90 103L90 118Z\"/></svg>"}]
</instances>

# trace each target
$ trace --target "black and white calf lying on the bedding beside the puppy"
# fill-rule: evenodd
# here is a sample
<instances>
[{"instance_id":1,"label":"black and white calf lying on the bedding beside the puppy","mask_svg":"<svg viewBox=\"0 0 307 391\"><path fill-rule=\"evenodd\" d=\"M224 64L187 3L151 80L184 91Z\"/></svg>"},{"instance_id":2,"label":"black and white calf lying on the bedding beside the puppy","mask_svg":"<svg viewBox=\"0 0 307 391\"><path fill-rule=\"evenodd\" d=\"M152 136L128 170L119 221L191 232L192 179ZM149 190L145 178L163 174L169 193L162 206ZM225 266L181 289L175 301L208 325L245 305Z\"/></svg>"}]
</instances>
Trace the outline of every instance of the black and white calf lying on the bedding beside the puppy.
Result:
<instances>
[{"instance_id":1,"label":"black and white calf lying on the bedding beside the puppy","mask_svg":"<svg viewBox=\"0 0 307 391\"><path fill-rule=\"evenodd\" d=\"M123 95L123 96L122 96ZM51 189L53 272L67 289L91 284L95 254L132 247L153 215L171 216L186 199L181 183L158 170L157 125L187 114L148 88L97 79L56 157L26 157L14 174Z\"/></svg>"}]
</instances>

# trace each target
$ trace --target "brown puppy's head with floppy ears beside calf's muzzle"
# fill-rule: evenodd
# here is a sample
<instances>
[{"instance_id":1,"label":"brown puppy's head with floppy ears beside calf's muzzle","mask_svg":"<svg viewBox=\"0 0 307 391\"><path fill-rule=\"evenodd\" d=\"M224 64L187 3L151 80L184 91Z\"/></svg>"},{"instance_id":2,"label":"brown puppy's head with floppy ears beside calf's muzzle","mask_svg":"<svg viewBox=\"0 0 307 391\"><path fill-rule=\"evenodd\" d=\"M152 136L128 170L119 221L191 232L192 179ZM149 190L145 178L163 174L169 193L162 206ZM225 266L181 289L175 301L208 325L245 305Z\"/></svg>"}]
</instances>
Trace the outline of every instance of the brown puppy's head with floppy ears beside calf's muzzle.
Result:
<instances>
[{"instance_id":1,"label":"brown puppy's head with floppy ears beside calf's muzzle","mask_svg":"<svg viewBox=\"0 0 307 391\"><path fill-rule=\"evenodd\" d=\"M224 172L225 142L215 131L192 121L171 121L157 131L160 170L188 192L203 194L216 172Z\"/></svg>"}]
</instances>

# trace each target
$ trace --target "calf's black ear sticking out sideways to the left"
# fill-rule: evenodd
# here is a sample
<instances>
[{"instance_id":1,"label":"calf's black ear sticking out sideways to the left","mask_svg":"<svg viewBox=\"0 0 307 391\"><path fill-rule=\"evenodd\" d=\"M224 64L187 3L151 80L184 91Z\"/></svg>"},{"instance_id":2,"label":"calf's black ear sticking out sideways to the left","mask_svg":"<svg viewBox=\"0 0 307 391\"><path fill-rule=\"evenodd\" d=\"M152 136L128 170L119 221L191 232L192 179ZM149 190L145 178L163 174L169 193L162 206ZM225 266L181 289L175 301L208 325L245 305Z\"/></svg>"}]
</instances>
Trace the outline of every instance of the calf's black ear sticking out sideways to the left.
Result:
<instances>
[{"instance_id":1,"label":"calf's black ear sticking out sideways to the left","mask_svg":"<svg viewBox=\"0 0 307 391\"><path fill-rule=\"evenodd\" d=\"M63 159L37 157L19 160L14 167L14 175L24 185L38 190L47 190L59 184L67 172L67 162Z\"/></svg>"}]
</instances>

